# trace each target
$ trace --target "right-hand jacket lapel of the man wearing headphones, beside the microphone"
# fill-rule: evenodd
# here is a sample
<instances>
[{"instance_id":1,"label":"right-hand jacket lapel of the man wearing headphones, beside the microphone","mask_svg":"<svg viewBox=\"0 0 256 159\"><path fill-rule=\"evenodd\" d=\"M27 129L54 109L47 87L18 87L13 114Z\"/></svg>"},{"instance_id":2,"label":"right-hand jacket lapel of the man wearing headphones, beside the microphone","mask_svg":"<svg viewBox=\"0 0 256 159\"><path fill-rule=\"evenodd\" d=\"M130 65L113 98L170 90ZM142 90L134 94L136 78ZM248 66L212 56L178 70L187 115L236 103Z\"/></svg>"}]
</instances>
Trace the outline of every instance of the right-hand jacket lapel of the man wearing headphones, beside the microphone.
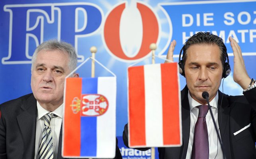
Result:
<instances>
[{"instance_id":1,"label":"right-hand jacket lapel of the man wearing headphones, beside the microphone","mask_svg":"<svg viewBox=\"0 0 256 159\"><path fill-rule=\"evenodd\" d=\"M228 103L228 99L226 95L223 96L223 93L219 91L219 101L218 101L218 122L221 132L221 140L223 142L224 153L227 159L231 158L231 151L230 151L230 140L229 140L229 114L230 114L230 106ZM222 104L221 104L222 101Z\"/></svg>"}]
</instances>

